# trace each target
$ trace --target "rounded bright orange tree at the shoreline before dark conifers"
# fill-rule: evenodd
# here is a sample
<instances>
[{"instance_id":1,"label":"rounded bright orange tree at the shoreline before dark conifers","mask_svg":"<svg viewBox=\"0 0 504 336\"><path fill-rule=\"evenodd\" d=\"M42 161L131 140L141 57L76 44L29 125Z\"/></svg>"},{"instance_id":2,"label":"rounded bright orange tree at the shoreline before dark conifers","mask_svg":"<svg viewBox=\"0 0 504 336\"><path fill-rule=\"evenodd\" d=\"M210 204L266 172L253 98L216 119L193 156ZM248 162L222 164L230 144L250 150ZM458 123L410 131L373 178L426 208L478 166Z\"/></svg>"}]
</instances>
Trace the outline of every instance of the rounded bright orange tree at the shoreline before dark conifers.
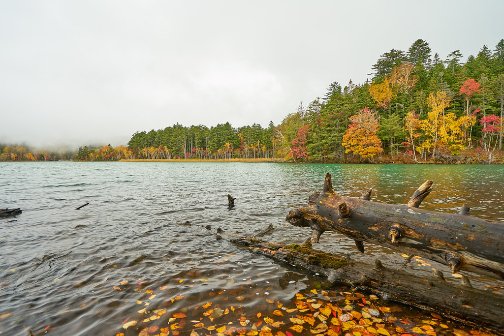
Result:
<instances>
[{"instance_id":1,"label":"rounded bright orange tree at the shoreline before dark conifers","mask_svg":"<svg viewBox=\"0 0 504 336\"><path fill-rule=\"evenodd\" d=\"M368 107L350 117L352 122L343 136L345 153L352 152L361 158L371 158L383 153L382 141L376 136L380 125L374 112Z\"/></svg>"}]
</instances>

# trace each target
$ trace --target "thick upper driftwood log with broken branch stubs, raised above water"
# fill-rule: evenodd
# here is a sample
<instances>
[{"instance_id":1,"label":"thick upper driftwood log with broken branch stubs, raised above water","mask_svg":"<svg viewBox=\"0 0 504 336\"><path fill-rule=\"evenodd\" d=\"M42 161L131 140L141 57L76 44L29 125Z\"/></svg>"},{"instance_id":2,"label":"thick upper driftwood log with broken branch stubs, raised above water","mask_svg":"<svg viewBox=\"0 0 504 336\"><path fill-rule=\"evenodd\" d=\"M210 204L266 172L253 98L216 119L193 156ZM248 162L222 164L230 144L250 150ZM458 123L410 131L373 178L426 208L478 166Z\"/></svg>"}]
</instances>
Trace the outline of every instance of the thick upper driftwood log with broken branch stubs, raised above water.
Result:
<instances>
[{"instance_id":1,"label":"thick upper driftwood log with broken branch stubs, raised above water","mask_svg":"<svg viewBox=\"0 0 504 336\"><path fill-rule=\"evenodd\" d=\"M308 205L292 210L287 221L312 229L311 242L325 231L336 231L363 241L419 255L460 270L504 279L504 223L459 214L417 209L430 192L432 181L422 184L408 206L370 201L370 190L360 198L340 196L327 174L324 189L313 193Z\"/></svg>"}]
</instances>

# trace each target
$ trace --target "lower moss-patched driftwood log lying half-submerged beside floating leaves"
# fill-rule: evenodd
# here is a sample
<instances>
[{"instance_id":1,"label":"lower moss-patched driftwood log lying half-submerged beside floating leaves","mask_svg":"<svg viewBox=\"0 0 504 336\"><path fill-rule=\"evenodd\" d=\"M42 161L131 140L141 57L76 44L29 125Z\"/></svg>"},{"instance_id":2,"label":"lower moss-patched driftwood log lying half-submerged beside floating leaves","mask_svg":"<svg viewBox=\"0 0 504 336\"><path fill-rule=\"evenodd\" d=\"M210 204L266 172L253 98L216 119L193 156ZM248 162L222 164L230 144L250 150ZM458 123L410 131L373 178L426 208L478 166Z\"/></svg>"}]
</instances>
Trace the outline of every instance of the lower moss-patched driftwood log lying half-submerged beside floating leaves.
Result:
<instances>
[{"instance_id":1,"label":"lower moss-patched driftwood log lying half-submerged beside floating leaves","mask_svg":"<svg viewBox=\"0 0 504 336\"><path fill-rule=\"evenodd\" d=\"M283 245L217 230L226 240L253 247L253 251L328 277L332 283L346 283L366 292L408 305L438 312L464 323L492 329L504 334L504 297L490 291L474 289L469 284L457 285L445 281L443 274L420 277L402 270L351 260L347 255L335 255L312 249L309 241L303 245Z\"/></svg>"}]
</instances>

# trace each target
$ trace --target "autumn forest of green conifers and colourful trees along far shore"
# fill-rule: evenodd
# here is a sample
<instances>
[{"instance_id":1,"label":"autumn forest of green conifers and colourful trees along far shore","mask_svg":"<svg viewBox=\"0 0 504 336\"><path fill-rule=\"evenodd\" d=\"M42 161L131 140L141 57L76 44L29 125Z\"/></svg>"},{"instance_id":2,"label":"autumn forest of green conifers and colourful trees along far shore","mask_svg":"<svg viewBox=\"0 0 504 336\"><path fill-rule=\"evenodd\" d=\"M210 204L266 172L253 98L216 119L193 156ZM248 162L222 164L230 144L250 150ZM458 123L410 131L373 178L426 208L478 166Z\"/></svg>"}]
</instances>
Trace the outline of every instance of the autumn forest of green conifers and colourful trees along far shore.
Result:
<instances>
[{"instance_id":1,"label":"autumn forest of green conifers and colourful trees along far shore","mask_svg":"<svg viewBox=\"0 0 504 336\"><path fill-rule=\"evenodd\" d=\"M137 131L127 146L35 152L0 144L0 161L270 159L292 162L504 163L504 39L465 62L418 39L371 65L365 83L333 82L322 97L270 122Z\"/></svg>"}]
</instances>

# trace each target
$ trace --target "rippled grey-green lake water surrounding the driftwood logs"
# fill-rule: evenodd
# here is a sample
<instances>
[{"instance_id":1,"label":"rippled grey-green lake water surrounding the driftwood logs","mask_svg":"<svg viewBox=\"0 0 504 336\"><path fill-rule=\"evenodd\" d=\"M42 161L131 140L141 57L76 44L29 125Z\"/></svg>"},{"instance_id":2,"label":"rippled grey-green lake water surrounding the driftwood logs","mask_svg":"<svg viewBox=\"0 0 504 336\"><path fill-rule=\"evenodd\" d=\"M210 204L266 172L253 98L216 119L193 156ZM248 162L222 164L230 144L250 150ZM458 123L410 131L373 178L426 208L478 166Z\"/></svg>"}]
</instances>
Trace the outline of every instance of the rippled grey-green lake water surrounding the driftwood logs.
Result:
<instances>
[{"instance_id":1,"label":"rippled grey-green lake water surrounding the driftwood logs","mask_svg":"<svg viewBox=\"0 0 504 336\"><path fill-rule=\"evenodd\" d=\"M395 204L406 204L432 179L423 209L458 212L469 203L474 216L504 221L504 166L0 162L0 208L23 210L0 219L0 334L139 334L180 322L170 331L188 335L195 328L190 319L200 320L209 302L222 311L232 307L214 316L219 325L271 314L266 300L287 306L296 293L315 296L312 289L339 302L344 289L322 276L215 234L218 227L253 234L273 224L264 239L301 243L309 230L285 216L322 189L327 172L340 194L360 196L371 187L372 200ZM232 210L228 193L236 197ZM366 244L361 254L336 233L325 233L319 247L419 274L432 274L434 266L450 274L443 265L426 266L379 246ZM471 279L475 287L495 284ZM173 321L179 312L188 316L183 323ZM400 314L428 313L404 307ZM137 325L123 329L133 320Z\"/></svg>"}]
</instances>

